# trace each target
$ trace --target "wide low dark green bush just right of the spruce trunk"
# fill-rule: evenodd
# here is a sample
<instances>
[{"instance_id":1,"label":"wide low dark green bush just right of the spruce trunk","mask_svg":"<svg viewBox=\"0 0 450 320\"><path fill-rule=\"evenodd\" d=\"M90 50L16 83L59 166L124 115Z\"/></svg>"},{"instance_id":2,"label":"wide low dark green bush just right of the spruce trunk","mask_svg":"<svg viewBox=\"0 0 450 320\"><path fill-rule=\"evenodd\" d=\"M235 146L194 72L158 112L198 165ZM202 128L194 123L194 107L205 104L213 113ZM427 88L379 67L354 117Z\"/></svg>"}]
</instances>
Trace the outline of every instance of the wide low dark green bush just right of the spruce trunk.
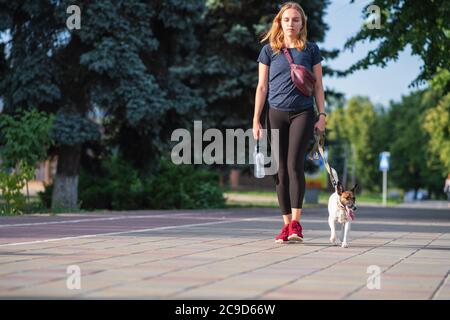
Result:
<instances>
[{"instance_id":1,"label":"wide low dark green bush just right of the spruce trunk","mask_svg":"<svg viewBox=\"0 0 450 320\"><path fill-rule=\"evenodd\" d=\"M112 157L95 174L81 170L78 197L87 210L221 208L225 198L218 180L217 173L164 158L152 176L142 177L131 164Z\"/></svg>"}]
</instances>

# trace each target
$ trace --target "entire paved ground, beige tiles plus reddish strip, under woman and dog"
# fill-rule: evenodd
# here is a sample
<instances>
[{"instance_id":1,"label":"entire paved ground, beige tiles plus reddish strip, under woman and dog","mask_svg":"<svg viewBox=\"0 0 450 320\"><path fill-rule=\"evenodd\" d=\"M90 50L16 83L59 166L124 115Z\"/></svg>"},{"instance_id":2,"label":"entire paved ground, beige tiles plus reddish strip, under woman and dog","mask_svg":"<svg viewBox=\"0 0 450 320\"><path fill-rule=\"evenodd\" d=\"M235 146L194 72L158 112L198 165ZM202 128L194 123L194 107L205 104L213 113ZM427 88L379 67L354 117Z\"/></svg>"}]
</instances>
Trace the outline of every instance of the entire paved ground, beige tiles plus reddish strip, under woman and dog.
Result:
<instances>
[{"instance_id":1,"label":"entire paved ground, beige tiles plus reddish strip, under woman and dog","mask_svg":"<svg viewBox=\"0 0 450 320\"><path fill-rule=\"evenodd\" d=\"M276 245L274 209L2 217L0 298L450 299L450 210L359 206L349 248L326 218Z\"/></svg>"}]
</instances>

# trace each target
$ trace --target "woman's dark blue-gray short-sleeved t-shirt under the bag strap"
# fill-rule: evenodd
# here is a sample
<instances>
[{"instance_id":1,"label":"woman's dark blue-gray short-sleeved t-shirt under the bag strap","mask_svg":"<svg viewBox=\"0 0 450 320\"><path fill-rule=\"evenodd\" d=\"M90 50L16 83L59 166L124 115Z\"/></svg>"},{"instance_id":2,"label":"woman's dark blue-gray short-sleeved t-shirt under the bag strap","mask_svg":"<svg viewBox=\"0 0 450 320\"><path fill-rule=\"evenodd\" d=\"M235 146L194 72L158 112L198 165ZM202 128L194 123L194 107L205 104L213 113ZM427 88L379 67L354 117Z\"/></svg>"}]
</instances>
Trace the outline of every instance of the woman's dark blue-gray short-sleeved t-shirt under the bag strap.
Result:
<instances>
[{"instance_id":1,"label":"woman's dark blue-gray short-sleeved t-shirt under the bag strap","mask_svg":"<svg viewBox=\"0 0 450 320\"><path fill-rule=\"evenodd\" d=\"M289 48L295 64L301 64L311 72L312 66L321 62L319 47L307 41L302 51ZM258 57L258 62L269 66L269 106L283 111L298 111L314 105L313 96L303 95L291 80L291 67L283 51L273 54L270 44L266 44Z\"/></svg>"}]
</instances>

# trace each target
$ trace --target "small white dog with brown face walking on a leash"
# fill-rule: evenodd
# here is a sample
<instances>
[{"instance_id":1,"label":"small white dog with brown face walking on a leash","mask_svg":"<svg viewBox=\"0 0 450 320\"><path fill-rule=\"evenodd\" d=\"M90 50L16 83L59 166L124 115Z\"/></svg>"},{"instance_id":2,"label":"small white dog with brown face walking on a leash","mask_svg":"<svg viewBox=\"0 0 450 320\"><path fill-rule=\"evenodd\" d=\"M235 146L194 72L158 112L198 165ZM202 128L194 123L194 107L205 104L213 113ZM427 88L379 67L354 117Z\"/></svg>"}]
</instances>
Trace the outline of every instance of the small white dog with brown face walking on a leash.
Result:
<instances>
[{"instance_id":1,"label":"small white dog with brown face walking on a leash","mask_svg":"<svg viewBox=\"0 0 450 320\"><path fill-rule=\"evenodd\" d=\"M342 183L339 182L336 170L331 168L334 180L337 182L335 192L330 196L328 200L328 224L331 229L330 242L339 245L339 241L336 238L335 222L342 224L340 241L342 243L342 248L348 247L349 242L349 232L351 222L355 219L354 212L356 211L355 206L355 186L350 191L344 191Z\"/></svg>"}]
</instances>

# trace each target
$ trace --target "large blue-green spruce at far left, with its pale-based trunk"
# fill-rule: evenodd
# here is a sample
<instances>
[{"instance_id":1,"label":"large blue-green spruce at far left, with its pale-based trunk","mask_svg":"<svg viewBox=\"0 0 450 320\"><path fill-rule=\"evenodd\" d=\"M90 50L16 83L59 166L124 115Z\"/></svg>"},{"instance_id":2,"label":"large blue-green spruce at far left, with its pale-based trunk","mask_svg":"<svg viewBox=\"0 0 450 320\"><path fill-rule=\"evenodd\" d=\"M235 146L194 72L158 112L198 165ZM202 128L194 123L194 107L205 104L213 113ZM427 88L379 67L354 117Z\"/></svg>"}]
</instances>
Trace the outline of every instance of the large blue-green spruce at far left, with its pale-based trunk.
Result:
<instances>
[{"instance_id":1,"label":"large blue-green spruce at far left, with its pale-based trunk","mask_svg":"<svg viewBox=\"0 0 450 320\"><path fill-rule=\"evenodd\" d=\"M52 206L65 208L77 207L83 146L101 138L93 111L103 112L105 136L126 158L147 163L165 145L167 115L204 105L170 70L196 42L203 1L78 1L81 28L69 30L71 4L0 1L0 32L10 34L0 59L5 112L56 115Z\"/></svg>"}]
</instances>

